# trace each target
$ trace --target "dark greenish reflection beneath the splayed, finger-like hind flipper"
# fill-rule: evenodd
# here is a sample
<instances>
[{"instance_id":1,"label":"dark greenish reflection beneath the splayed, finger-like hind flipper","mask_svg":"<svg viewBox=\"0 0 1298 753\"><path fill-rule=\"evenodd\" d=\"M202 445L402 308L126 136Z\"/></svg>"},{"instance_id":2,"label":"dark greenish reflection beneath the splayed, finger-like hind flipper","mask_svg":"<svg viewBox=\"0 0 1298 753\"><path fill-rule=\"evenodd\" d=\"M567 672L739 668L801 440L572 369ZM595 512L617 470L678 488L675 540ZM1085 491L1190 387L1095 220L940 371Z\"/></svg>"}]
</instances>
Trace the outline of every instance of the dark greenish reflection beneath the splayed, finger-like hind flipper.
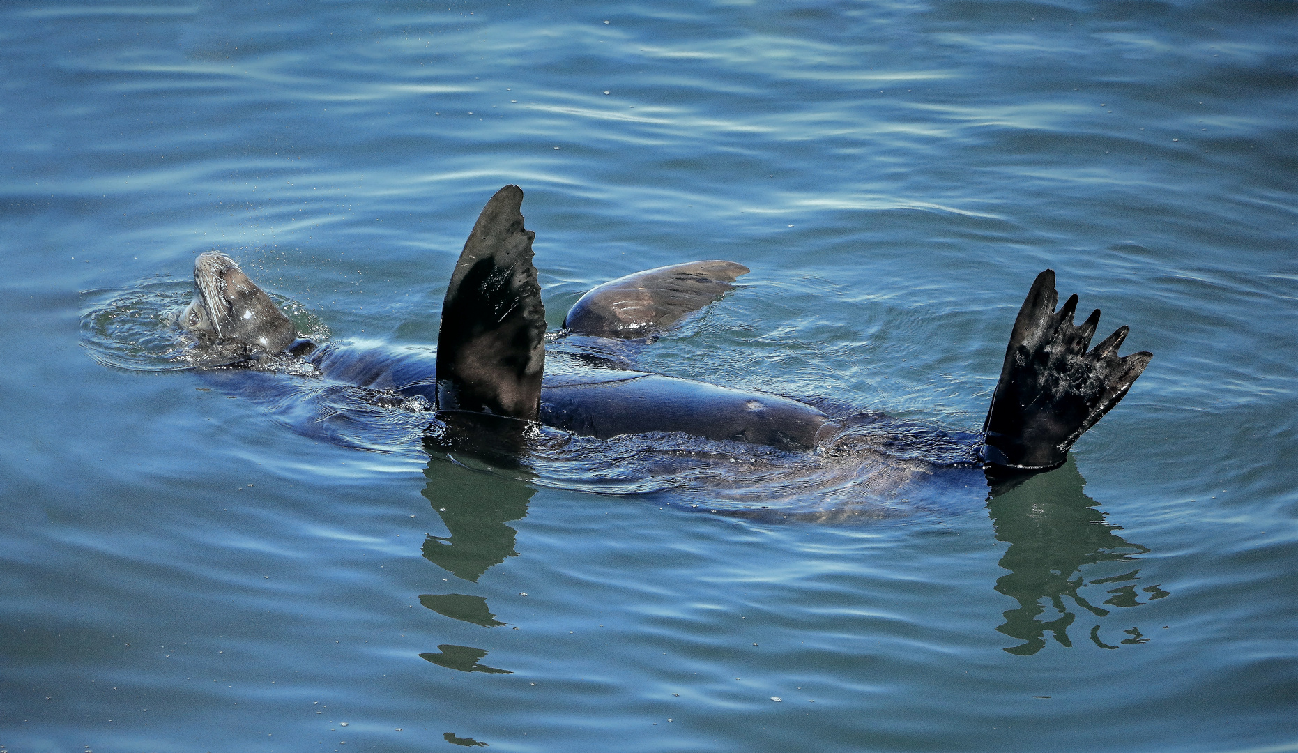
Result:
<instances>
[{"instance_id":1,"label":"dark greenish reflection beneath the splayed, finger-like hind flipper","mask_svg":"<svg viewBox=\"0 0 1298 753\"><path fill-rule=\"evenodd\" d=\"M1031 656L1046 645L1050 634L1055 641L1071 647L1068 627L1080 613L1107 617L1111 610L1090 602L1089 587L1124 583L1105 589L1111 595L1105 605L1138 606L1140 569L1121 575L1086 582L1080 570L1096 562L1127 562L1149 552L1119 536L1118 526L1106 521L1096 509L1099 502L1083 492L1085 479L1070 458L1054 471L1028 478L1018 484L993 484L988 512L996 537L1009 544L1001 567L1010 571L996 582L996 589L1019 602L1005 613L998 631L1024 643L1006 648L1009 653ZM1140 588L1146 600L1168 596L1158 586ZM1067 599L1067 601L1066 601ZM1092 599L1096 599L1094 596ZM1049 601L1053 613L1042 602ZM1071 602L1071 604L1070 604ZM1145 643L1137 628L1125 631L1131 637L1120 644ZM1103 643L1099 624L1090 630L1090 639L1101 648L1118 648Z\"/></svg>"}]
</instances>

